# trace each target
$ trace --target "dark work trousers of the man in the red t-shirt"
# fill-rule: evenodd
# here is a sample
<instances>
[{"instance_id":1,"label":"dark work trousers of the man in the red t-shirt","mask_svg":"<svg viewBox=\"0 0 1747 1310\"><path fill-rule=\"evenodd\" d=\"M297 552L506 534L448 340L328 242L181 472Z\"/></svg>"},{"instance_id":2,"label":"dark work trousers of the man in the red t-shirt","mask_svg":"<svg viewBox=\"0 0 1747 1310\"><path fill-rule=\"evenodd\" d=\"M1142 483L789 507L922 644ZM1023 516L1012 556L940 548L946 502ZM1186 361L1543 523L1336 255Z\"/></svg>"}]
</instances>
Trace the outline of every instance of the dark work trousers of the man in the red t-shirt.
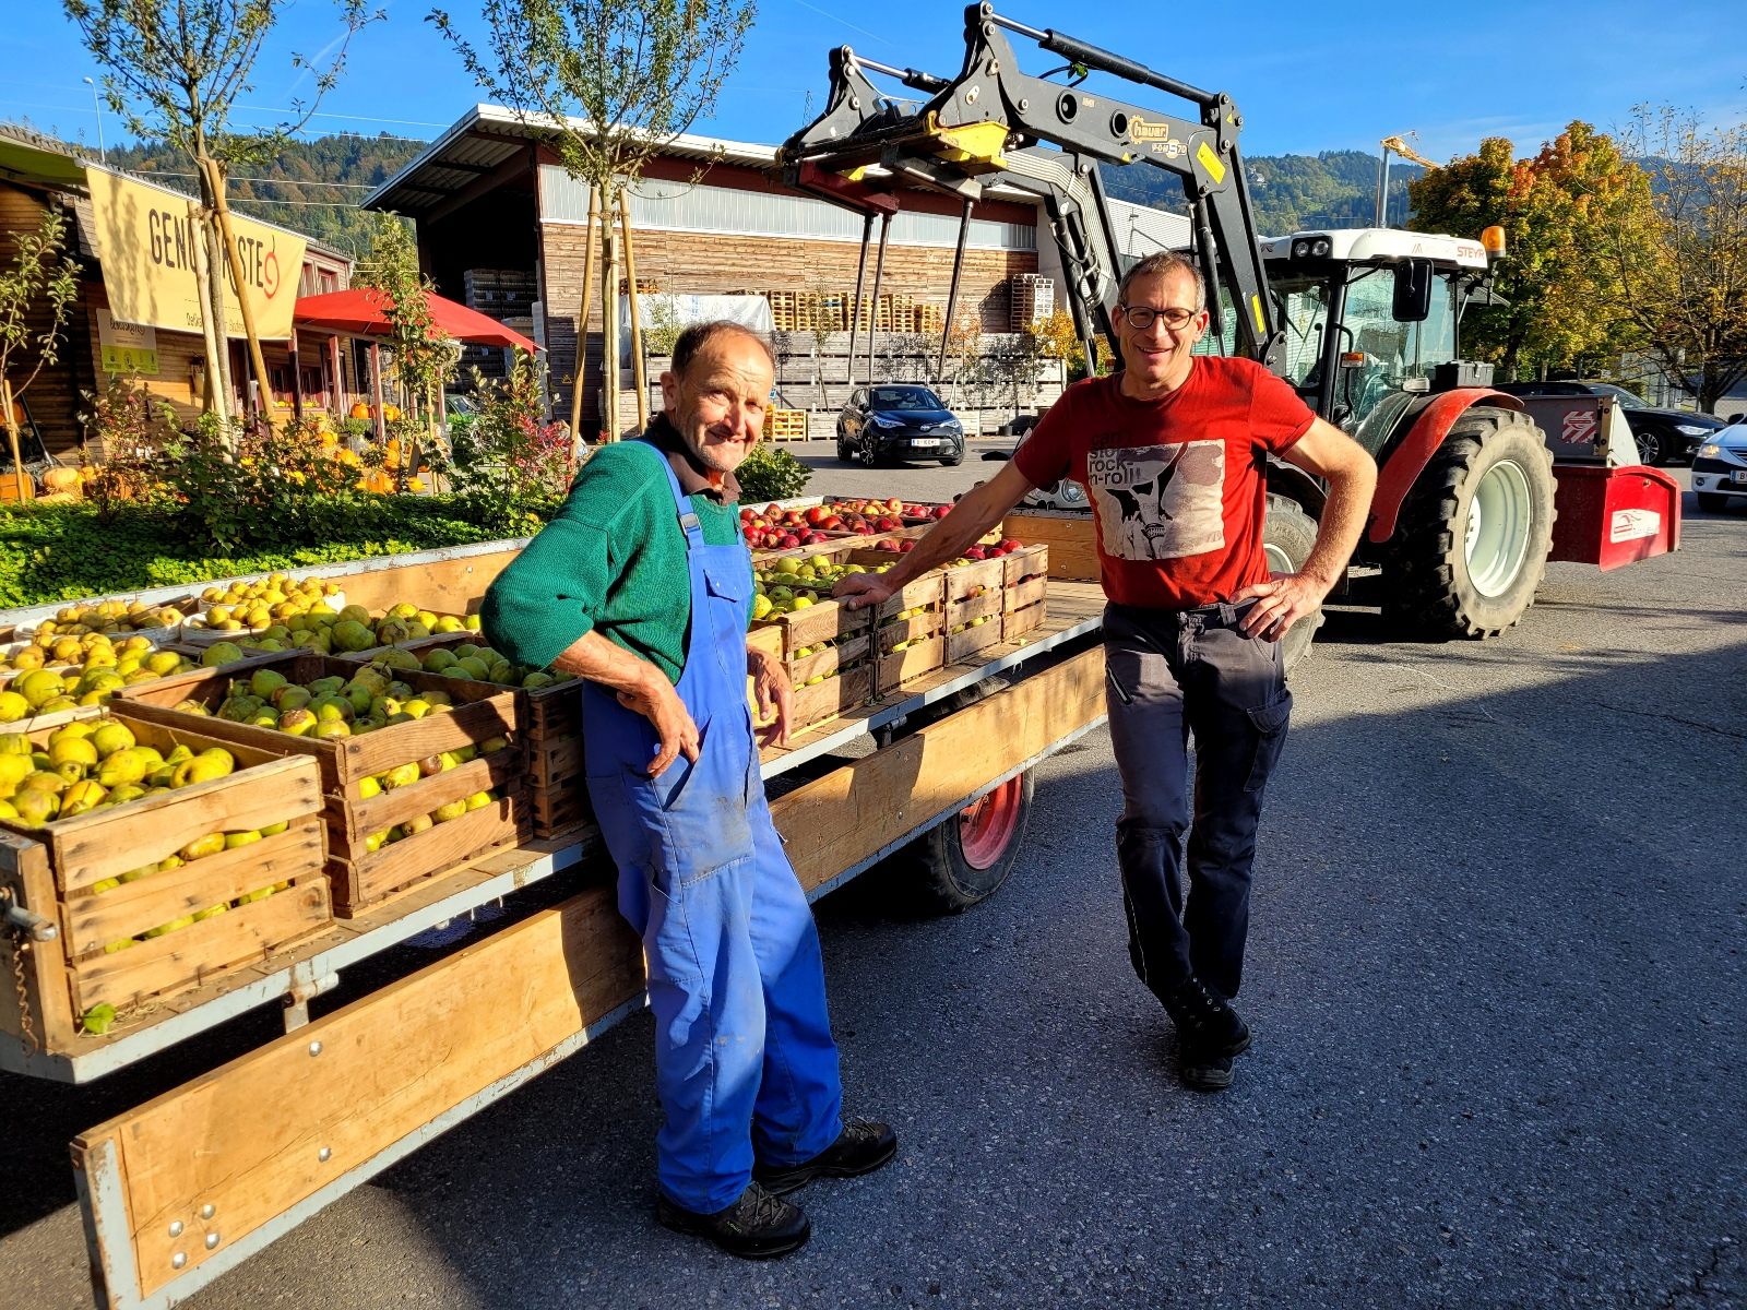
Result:
<instances>
[{"instance_id":1,"label":"dark work trousers of the man in the red t-shirt","mask_svg":"<svg viewBox=\"0 0 1747 1310\"><path fill-rule=\"evenodd\" d=\"M1226 997L1237 996L1244 978L1256 821L1293 707L1281 643L1246 638L1239 624L1247 611L1249 603L1104 610L1104 704L1122 774L1116 861L1129 954L1160 999L1190 973Z\"/></svg>"}]
</instances>

